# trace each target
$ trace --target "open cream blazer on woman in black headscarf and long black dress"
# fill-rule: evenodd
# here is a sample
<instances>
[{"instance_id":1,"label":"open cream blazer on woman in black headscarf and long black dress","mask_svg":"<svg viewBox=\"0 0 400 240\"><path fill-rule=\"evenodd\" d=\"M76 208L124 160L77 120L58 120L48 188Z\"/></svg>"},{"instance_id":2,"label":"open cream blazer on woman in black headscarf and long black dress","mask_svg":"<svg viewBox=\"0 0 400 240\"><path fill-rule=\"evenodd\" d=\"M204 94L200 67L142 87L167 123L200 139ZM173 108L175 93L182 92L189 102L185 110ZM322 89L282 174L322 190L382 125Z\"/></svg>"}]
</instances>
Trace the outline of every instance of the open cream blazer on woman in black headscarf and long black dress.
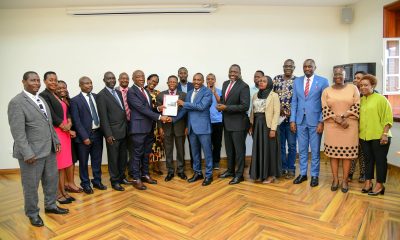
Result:
<instances>
[{"instance_id":1,"label":"open cream blazer on woman in black headscarf and long black dress","mask_svg":"<svg viewBox=\"0 0 400 240\"><path fill-rule=\"evenodd\" d=\"M253 95L252 106L254 106L254 100L257 99L257 94ZM271 130L276 131L278 128L279 116L281 113L281 104L279 96L275 92L270 92L267 99L265 99L265 122L267 127ZM250 123L254 123L254 109L250 112Z\"/></svg>"}]
</instances>

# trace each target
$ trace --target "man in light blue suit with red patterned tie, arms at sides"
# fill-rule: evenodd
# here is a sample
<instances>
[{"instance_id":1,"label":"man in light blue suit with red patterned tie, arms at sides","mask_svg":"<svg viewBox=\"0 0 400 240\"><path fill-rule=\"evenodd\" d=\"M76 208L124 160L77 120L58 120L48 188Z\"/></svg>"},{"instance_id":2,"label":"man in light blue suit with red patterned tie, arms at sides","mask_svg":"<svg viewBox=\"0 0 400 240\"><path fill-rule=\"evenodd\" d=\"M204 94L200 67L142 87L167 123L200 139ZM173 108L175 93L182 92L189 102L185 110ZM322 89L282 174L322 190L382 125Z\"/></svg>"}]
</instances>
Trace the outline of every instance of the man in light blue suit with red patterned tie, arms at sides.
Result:
<instances>
[{"instance_id":1,"label":"man in light blue suit with red patterned tie, arms at sides","mask_svg":"<svg viewBox=\"0 0 400 240\"><path fill-rule=\"evenodd\" d=\"M321 95L329 86L326 78L314 75L313 59L303 64L304 76L297 77L293 84L290 130L297 132L299 144L300 175L293 181L300 184L307 180L308 148L311 148L311 187L318 186L320 145L324 131Z\"/></svg>"}]
</instances>

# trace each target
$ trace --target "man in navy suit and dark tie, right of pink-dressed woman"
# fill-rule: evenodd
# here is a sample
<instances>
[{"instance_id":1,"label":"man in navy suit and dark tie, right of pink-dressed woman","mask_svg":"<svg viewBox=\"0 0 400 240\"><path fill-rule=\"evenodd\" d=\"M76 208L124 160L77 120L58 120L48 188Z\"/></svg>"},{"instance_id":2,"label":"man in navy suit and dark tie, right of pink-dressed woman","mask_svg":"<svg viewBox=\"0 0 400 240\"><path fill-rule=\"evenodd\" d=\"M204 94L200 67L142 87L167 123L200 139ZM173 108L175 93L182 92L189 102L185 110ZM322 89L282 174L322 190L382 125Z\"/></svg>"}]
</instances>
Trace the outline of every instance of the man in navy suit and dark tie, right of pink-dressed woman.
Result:
<instances>
[{"instance_id":1,"label":"man in navy suit and dark tie, right of pink-dressed woman","mask_svg":"<svg viewBox=\"0 0 400 240\"><path fill-rule=\"evenodd\" d=\"M92 194L90 187L88 162L92 163L94 188L106 190L101 183L101 158L103 153L103 137L100 130L100 119L96 106L96 95L92 93L92 80L88 77L79 79L81 93L71 99L72 122L76 129L75 142L78 147L79 176L81 186L86 194Z\"/></svg>"}]
</instances>

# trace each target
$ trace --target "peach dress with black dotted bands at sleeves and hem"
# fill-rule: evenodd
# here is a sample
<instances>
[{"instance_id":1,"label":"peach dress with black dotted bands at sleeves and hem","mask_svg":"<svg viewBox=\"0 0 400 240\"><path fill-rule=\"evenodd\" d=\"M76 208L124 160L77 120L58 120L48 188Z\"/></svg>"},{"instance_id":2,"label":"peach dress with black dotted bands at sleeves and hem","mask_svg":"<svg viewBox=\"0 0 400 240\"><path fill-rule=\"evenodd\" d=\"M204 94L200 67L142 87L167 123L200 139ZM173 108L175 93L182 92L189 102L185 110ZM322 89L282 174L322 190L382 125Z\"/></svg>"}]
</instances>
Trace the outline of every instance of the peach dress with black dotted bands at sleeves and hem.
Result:
<instances>
[{"instance_id":1,"label":"peach dress with black dotted bands at sleeves and hem","mask_svg":"<svg viewBox=\"0 0 400 240\"><path fill-rule=\"evenodd\" d=\"M347 84L341 89L326 88L322 93L324 119L324 152L331 158L354 159L358 157L358 114L360 94L356 86ZM349 127L344 129L332 117L350 113Z\"/></svg>"}]
</instances>

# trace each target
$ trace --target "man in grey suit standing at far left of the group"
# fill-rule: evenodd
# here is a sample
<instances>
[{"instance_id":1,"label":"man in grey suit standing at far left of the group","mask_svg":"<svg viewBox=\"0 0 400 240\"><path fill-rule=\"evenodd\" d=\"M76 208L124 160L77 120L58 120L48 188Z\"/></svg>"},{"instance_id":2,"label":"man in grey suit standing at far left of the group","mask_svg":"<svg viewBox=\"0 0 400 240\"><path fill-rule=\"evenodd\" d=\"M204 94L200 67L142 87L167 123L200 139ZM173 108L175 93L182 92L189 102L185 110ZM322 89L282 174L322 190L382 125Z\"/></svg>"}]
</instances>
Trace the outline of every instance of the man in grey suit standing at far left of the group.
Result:
<instances>
[{"instance_id":1,"label":"man in grey suit standing at far left of the group","mask_svg":"<svg viewBox=\"0 0 400 240\"><path fill-rule=\"evenodd\" d=\"M25 215L33 226L44 226L39 216L38 187L42 180L45 213L66 214L56 205L58 170L56 152L60 141L54 131L50 109L39 95L40 78L29 71L24 90L8 104L8 122L14 138L13 157L18 159L24 190Z\"/></svg>"}]
</instances>

